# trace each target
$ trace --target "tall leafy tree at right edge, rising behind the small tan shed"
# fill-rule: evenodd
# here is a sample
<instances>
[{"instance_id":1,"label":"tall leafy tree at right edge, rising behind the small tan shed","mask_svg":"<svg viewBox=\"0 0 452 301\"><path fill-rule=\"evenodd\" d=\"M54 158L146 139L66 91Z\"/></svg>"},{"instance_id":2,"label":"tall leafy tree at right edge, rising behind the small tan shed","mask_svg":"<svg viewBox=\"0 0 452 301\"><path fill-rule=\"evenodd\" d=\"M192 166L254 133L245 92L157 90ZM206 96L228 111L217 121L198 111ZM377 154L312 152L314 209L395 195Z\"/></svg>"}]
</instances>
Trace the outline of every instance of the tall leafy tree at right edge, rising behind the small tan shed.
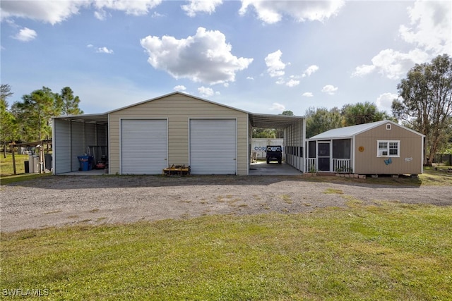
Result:
<instances>
[{"instance_id":1,"label":"tall leafy tree at right edge, rising behind the small tan shed","mask_svg":"<svg viewBox=\"0 0 452 301\"><path fill-rule=\"evenodd\" d=\"M393 114L425 135L424 164L432 165L436 151L451 127L451 57L443 54L431 63L417 64L397 88L403 100L393 101Z\"/></svg>"}]
</instances>

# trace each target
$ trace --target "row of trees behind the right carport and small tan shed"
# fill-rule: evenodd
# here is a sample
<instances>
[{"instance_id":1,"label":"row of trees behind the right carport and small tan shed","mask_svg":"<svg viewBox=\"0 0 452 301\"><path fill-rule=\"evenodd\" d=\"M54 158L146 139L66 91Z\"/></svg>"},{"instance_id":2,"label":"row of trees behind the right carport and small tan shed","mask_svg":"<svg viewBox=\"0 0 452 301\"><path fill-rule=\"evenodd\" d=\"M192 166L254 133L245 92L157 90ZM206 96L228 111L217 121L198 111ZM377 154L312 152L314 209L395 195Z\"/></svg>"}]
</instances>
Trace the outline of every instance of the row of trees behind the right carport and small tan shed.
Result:
<instances>
[{"instance_id":1,"label":"row of trees behind the right carport and small tan shed","mask_svg":"<svg viewBox=\"0 0 452 301\"><path fill-rule=\"evenodd\" d=\"M304 113L306 137L344 126L391 120L425 135L424 164L432 165L437 153L452 154L452 59L436 56L430 63L416 64L397 85L391 113L379 111L375 104L363 102L334 107L310 107ZM283 115L293 115L285 111ZM253 137L280 138L278 129L254 129Z\"/></svg>"}]
</instances>

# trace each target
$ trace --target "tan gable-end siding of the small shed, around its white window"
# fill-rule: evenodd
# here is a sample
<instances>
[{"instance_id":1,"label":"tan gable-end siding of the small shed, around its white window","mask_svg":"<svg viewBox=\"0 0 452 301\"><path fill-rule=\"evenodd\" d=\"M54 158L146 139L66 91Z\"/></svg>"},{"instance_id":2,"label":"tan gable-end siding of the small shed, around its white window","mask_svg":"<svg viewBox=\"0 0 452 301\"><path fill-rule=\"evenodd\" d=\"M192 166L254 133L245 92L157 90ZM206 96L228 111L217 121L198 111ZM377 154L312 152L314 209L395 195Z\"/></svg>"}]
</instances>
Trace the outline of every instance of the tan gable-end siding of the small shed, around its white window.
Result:
<instances>
[{"instance_id":1,"label":"tan gable-end siding of the small shed, around its white window","mask_svg":"<svg viewBox=\"0 0 452 301\"><path fill-rule=\"evenodd\" d=\"M386 123L355 136L355 173L360 174L419 174L422 173L421 135L406 128ZM400 157L391 157L391 164L385 164L388 157L377 157L378 140L400 140ZM364 147L359 152L359 147Z\"/></svg>"}]
</instances>

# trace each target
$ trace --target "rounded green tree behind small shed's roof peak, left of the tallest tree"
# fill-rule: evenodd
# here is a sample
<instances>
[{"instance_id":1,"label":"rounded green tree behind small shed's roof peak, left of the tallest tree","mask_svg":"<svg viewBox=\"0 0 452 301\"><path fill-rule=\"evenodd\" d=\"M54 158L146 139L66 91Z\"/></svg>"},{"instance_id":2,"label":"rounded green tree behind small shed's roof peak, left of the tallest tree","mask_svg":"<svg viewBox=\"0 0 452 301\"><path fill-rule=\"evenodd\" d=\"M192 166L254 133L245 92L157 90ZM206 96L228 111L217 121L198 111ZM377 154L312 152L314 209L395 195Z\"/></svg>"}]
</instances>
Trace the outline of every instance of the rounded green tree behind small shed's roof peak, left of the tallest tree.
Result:
<instances>
[{"instance_id":1,"label":"rounded green tree behind small shed's roof peak, left of the tallest tree","mask_svg":"<svg viewBox=\"0 0 452 301\"><path fill-rule=\"evenodd\" d=\"M382 121L389 118L384 111L379 111L375 104L370 102L359 102L357 104L345 104L342 109L343 125L358 125Z\"/></svg>"}]
</instances>

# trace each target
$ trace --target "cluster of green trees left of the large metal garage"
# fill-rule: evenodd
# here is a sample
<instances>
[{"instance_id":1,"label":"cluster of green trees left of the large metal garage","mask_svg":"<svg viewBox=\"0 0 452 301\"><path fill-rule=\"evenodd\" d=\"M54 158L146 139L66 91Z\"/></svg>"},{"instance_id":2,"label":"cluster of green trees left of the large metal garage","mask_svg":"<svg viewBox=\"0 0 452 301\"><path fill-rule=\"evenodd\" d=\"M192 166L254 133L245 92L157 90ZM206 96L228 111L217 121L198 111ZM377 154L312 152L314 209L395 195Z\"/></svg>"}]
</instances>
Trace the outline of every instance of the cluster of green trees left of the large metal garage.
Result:
<instances>
[{"instance_id":1,"label":"cluster of green trees left of the large metal garage","mask_svg":"<svg viewBox=\"0 0 452 301\"><path fill-rule=\"evenodd\" d=\"M52 116L78 115L80 98L74 96L70 87L54 93L48 87L42 87L30 94L23 95L22 101L8 104L13 96L11 86L0 86L0 137L4 149L14 141L30 142L52 138Z\"/></svg>"}]
</instances>

